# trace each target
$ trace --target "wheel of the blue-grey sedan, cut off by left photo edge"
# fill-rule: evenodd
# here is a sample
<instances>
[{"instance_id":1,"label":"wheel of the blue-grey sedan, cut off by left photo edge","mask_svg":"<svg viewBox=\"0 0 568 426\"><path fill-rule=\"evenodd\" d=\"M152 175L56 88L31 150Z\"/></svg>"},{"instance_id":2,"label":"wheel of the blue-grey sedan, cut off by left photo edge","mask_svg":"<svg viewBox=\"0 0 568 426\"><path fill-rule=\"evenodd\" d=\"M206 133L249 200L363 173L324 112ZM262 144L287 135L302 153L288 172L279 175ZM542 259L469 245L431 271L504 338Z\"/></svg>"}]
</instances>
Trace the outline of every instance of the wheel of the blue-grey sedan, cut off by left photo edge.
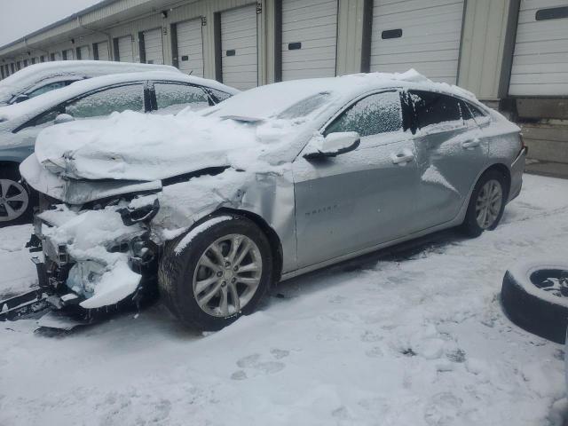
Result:
<instances>
[{"instance_id":1,"label":"wheel of the blue-grey sedan, cut off by left photo edge","mask_svg":"<svg viewBox=\"0 0 568 426\"><path fill-rule=\"evenodd\" d=\"M16 167L0 173L0 227L23 224L31 219L33 197L19 181L20 172Z\"/></svg>"}]
</instances>

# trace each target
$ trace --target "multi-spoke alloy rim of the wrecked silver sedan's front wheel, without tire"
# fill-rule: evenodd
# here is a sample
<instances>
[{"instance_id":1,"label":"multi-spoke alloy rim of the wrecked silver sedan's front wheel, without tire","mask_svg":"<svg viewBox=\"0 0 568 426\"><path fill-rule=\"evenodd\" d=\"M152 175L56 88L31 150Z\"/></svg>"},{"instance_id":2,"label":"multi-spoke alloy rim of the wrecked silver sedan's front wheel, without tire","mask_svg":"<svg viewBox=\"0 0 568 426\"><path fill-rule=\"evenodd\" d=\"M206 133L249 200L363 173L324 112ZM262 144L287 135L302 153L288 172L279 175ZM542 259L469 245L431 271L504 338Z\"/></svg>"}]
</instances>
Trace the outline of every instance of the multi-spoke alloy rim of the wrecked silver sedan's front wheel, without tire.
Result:
<instances>
[{"instance_id":1,"label":"multi-spoke alloy rim of the wrecked silver sedan's front wheel, without tire","mask_svg":"<svg viewBox=\"0 0 568 426\"><path fill-rule=\"evenodd\" d=\"M245 235L217 239L203 252L193 272L193 296L203 312L228 317L255 296L263 271L256 243Z\"/></svg>"}]
</instances>

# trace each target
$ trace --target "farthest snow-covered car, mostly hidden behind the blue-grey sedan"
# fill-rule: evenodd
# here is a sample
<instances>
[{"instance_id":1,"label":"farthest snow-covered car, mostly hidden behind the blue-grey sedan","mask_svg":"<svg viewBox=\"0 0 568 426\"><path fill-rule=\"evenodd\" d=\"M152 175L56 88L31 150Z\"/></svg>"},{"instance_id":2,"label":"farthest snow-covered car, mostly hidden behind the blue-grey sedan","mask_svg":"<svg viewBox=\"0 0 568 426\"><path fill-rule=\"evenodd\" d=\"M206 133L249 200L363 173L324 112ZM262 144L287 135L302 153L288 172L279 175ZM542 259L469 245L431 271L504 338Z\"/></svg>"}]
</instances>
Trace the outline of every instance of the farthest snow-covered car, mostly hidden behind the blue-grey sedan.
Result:
<instances>
[{"instance_id":1,"label":"farthest snow-covered car, mostly hidden behind the blue-grey sedan","mask_svg":"<svg viewBox=\"0 0 568 426\"><path fill-rule=\"evenodd\" d=\"M71 83L100 75L170 71L168 65L133 64L107 60L57 60L30 65L0 82L0 106L17 104Z\"/></svg>"}]
</instances>

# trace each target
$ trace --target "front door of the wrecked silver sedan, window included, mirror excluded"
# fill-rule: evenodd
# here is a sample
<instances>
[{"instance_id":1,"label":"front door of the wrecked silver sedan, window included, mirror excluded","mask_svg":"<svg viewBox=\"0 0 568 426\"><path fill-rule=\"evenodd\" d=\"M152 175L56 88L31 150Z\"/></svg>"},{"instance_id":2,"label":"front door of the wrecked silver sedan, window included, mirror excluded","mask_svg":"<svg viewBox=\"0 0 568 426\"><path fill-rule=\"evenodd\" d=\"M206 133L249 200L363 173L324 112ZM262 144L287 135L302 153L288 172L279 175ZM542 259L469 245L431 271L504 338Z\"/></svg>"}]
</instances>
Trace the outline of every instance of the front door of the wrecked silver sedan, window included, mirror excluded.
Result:
<instances>
[{"instance_id":1,"label":"front door of the wrecked silver sedan, window included, mirror excluded","mask_svg":"<svg viewBox=\"0 0 568 426\"><path fill-rule=\"evenodd\" d=\"M298 267L413 231L418 176L398 91L354 102L324 136L341 131L359 132L359 148L319 160L300 155L293 164Z\"/></svg>"}]
</instances>

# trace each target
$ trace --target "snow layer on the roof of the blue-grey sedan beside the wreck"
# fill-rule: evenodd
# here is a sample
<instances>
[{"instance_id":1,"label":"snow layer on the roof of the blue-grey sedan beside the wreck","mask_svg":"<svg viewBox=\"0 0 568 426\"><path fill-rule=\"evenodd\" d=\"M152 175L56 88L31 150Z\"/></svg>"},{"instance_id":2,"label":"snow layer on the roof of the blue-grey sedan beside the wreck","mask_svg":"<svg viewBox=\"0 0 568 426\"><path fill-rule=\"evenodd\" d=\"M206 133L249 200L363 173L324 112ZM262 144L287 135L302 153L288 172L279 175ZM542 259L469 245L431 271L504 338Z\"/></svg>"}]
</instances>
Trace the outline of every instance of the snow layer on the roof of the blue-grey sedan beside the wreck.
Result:
<instances>
[{"instance_id":1,"label":"snow layer on the roof of the blue-grey sedan beside the wreck","mask_svg":"<svg viewBox=\"0 0 568 426\"><path fill-rule=\"evenodd\" d=\"M230 93L232 95L239 92L232 87L225 86L225 84L218 83L214 80L194 77L192 75L185 75L178 72L172 73L170 71L150 71L144 73L102 75L99 77L90 78L88 80L72 83L67 87L58 89L57 91L48 91L46 93L43 93L42 95L36 96L36 98L29 99L26 102L21 102L20 104L0 107L0 121L2 119L13 120L22 116L39 114L45 109L50 108L51 106L56 106L60 102L64 102L67 99L72 99L75 98L75 96L79 96L83 93L94 91L112 84L138 82L144 80L166 80L170 82L199 84L201 86L207 86L219 91L225 91L226 93Z\"/></svg>"}]
</instances>

